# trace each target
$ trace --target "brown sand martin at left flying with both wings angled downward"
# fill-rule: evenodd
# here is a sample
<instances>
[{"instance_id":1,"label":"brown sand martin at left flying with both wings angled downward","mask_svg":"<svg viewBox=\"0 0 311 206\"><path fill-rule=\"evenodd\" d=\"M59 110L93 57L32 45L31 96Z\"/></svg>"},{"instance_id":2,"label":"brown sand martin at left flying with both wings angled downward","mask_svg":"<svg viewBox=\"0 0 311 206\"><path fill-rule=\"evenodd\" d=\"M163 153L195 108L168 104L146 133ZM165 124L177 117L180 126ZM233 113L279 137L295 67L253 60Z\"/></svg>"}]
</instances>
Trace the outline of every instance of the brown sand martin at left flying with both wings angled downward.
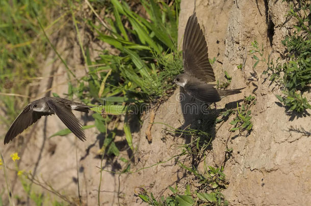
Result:
<instances>
[{"instance_id":1,"label":"brown sand martin at left flying with both wings angled downward","mask_svg":"<svg viewBox=\"0 0 311 206\"><path fill-rule=\"evenodd\" d=\"M83 105L59 97L43 97L27 105L16 117L4 143L8 143L26 128L37 122L41 116L56 114L68 129L79 139L86 140L82 125L71 110L88 112L93 106Z\"/></svg>"}]
</instances>

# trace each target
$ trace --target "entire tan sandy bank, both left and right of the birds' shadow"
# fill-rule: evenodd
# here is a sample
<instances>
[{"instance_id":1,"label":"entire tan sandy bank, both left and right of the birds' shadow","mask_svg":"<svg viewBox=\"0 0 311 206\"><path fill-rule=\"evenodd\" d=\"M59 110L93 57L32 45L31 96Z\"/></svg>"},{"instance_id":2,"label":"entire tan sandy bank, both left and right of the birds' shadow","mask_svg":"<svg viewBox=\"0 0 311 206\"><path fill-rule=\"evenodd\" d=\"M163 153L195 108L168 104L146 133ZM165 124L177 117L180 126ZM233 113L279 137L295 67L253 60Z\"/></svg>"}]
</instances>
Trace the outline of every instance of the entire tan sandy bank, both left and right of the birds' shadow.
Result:
<instances>
[{"instance_id":1,"label":"entire tan sandy bank, both left and right of the birds' shadow","mask_svg":"<svg viewBox=\"0 0 311 206\"><path fill-rule=\"evenodd\" d=\"M194 1L182 1L178 28L179 45L182 44L187 20L193 11ZM255 61L248 52L252 49L251 42L254 40L260 47L263 45L266 58L269 54L277 57L279 52L284 51L280 41L292 28L292 22L286 21L284 17L287 11L286 3L268 0L197 0L195 11L208 43L209 57L216 57L213 65L216 79L224 80L224 71L227 71L232 77L228 89L246 86L243 93L226 97L218 102L217 108L225 108L228 103L241 100L244 96L253 95L257 99L257 103L251 108L254 125L251 133L248 136L240 136L237 132L230 136L229 119L217 131L212 141L212 150L206 153L206 164L219 166L225 155L225 141L229 138L227 146L232 149L232 153L224 167L229 185L223 194L232 205L307 205L311 202L310 117L290 119L291 116L286 114L284 107L275 104L278 100L274 95L281 94L280 90L274 85L269 86L269 81L264 81L265 76L262 75L266 69L264 63L258 64L253 69ZM70 36L67 40L61 41L56 38L55 41L59 52L68 55L67 58L71 59L68 62L69 67L74 68L76 62L81 59L79 45L76 42L72 44ZM51 54L49 60L55 57ZM65 76L62 75L66 71L65 68L58 63L49 65L49 60L44 66L43 75L50 75L51 70L57 67L55 74L59 76L53 79L53 85L58 85L58 87L55 87L53 92L66 93L67 88L60 86L60 83L66 81ZM237 68L240 64L243 65L242 70ZM77 76L84 75L83 69L77 71L79 71ZM40 83L42 91L39 93L45 90L46 83L46 80L42 80ZM180 91L177 89L166 102L160 105L155 113L154 122L178 128L186 127L189 123L196 121L196 116L183 114L183 102L179 101ZM193 100L190 98L185 101ZM141 192L140 188L148 189L148 192L158 197L171 194L168 190L169 186L174 187L178 184L182 187L191 183L188 173L176 165L175 159L172 158L181 153L179 144L189 143L189 137L171 135L163 130L167 128L166 126L154 124L151 130L152 142L148 143L145 132L149 116L149 113L143 115L142 125L136 126L133 130L135 131L133 143L137 152L131 171L149 167L161 161L165 163L132 174L103 172L100 192L102 205L117 205L118 203L144 205L145 203L137 196ZM87 122L88 119L84 116L83 120ZM47 121L46 133L49 135L65 128L55 116L49 116ZM24 151L20 168L33 171L36 167L40 180L49 183L56 191L72 197L71 201L77 202L75 157L77 153L82 200L86 205L96 205L99 183L97 167L100 166L98 150L103 136L96 133L93 128L86 131L86 142L76 141L71 134L69 137L46 139L43 143L44 124L44 120L41 120L35 126L29 142L28 139L24 140L27 141L27 145L19 144ZM122 123L118 131L116 141L122 148L122 145L126 145ZM18 145L18 141L15 141L15 144ZM7 145L4 152L7 160L12 151L15 151L13 145ZM121 150L120 157L128 158L129 154L129 151ZM179 159L179 161L186 165L191 164L190 157ZM14 167L13 163L8 164L9 167ZM118 172L125 164L119 158L106 158L103 165L105 165L105 170ZM201 171L202 167L203 162L198 165ZM20 192L22 196L20 183L14 183L15 178L16 174L11 172L9 179L12 185L16 183L14 193ZM5 182L1 181L1 184L4 185ZM40 187L35 186L35 189L40 190Z\"/></svg>"}]
</instances>

